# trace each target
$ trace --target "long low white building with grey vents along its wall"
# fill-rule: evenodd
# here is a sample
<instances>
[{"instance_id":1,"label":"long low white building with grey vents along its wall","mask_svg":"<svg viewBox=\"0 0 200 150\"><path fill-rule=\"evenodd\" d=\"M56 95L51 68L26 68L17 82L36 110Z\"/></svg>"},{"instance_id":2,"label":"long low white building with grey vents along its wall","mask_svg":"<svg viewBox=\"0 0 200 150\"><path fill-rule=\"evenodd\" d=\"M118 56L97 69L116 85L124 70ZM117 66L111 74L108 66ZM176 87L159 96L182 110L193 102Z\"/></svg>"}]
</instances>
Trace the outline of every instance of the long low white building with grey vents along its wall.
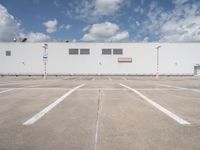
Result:
<instances>
[{"instance_id":1,"label":"long low white building with grey vents along its wall","mask_svg":"<svg viewBox=\"0 0 200 150\"><path fill-rule=\"evenodd\" d=\"M0 75L42 75L43 46L0 43ZM199 43L48 43L46 51L51 75L155 75L157 60L161 75L200 74Z\"/></svg>"}]
</instances>

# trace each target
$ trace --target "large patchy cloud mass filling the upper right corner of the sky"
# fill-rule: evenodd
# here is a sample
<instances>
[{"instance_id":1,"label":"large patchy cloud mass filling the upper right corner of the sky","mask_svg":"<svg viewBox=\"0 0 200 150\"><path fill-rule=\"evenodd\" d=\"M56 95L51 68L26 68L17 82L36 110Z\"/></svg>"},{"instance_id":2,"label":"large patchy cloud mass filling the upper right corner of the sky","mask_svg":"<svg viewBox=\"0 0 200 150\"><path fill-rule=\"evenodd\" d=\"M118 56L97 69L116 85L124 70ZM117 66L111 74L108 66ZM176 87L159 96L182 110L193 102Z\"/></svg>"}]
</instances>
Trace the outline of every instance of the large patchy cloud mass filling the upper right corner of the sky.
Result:
<instances>
[{"instance_id":1,"label":"large patchy cloud mass filling the upper right corner of the sky","mask_svg":"<svg viewBox=\"0 0 200 150\"><path fill-rule=\"evenodd\" d=\"M161 42L199 42L200 41L200 2L173 0L174 8L164 10L152 2L138 34L159 37Z\"/></svg>"}]
</instances>

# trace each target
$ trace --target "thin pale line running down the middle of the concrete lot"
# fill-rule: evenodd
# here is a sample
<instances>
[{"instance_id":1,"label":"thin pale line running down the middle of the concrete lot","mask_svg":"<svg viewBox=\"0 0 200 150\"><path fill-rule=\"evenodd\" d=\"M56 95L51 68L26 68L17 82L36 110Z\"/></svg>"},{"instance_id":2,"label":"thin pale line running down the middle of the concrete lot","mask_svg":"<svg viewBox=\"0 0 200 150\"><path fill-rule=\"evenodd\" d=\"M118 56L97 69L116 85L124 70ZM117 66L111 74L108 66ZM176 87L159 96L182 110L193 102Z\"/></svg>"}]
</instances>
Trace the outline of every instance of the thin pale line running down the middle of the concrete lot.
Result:
<instances>
[{"instance_id":1,"label":"thin pale line running down the middle of the concrete lot","mask_svg":"<svg viewBox=\"0 0 200 150\"><path fill-rule=\"evenodd\" d=\"M94 139L94 150L97 150L97 143L99 137L99 120L102 112L102 102L101 102L101 91L99 89L99 97L98 97L98 108L97 108L97 120L96 120L96 131L95 131L95 139Z\"/></svg>"}]
</instances>

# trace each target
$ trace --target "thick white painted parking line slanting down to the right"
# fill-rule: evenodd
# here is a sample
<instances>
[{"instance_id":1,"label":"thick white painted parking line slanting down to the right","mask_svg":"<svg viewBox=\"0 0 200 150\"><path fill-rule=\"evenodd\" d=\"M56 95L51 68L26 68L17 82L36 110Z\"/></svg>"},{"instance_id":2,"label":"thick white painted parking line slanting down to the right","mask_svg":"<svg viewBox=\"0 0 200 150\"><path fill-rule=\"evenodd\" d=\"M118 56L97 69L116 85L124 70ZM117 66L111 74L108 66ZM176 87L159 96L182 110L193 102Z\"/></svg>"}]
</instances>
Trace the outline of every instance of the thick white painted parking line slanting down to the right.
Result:
<instances>
[{"instance_id":1,"label":"thick white painted parking line slanting down to the right","mask_svg":"<svg viewBox=\"0 0 200 150\"><path fill-rule=\"evenodd\" d=\"M154 102L153 100L151 100L150 98L146 97L145 95L143 95L142 93L140 93L139 91L126 86L124 84L120 84L121 86L133 91L134 93L136 93L138 96L140 96L142 99L144 99L145 101L147 101L148 103L150 103L152 106L154 106L155 108L157 108L158 110L162 111L163 113L165 113L167 116L169 116L170 118L174 119L176 122L178 122L181 125L189 125L190 123L182 118L180 118L179 116L177 116L176 114L170 112L169 110L167 110L166 108L162 107L161 105L159 105L158 103Z\"/></svg>"}]
</instances>

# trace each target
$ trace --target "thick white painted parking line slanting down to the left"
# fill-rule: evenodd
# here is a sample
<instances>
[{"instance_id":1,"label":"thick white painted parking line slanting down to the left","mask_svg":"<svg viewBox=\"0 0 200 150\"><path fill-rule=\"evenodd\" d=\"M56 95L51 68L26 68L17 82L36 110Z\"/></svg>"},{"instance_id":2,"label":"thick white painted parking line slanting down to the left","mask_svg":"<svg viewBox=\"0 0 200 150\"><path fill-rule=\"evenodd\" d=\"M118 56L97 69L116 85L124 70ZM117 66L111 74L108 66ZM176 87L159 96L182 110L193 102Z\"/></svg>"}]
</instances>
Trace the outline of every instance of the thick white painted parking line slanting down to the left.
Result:
<instances>
[{"instance_id":1,"label":"thick white painted parking line slanting down to the left","mask_svg":"<svg viewBox=\"0 0 200 150\"><path fill-rule=\"evenodd\" d=\"M60 102L62 102L67 96L69 96L74 91L78 90L79 88L83 87L84 85L85 84L81 84L81 85L79 85L79 86L71 89L70 91L68 91L67 93L65 93L63 96L61 96L60 98L58 98L55 102L51 103L46 108L44 108L43 110L41 110L40 112L38 112L36 115L34 115L30 119L28 119L26 122L23 123L23 125L28 126L28 125L34 124L36 121L38 121L39 119L41 119L46 113L48 113L51 109L53 109L56 105L58 105Z\"/></svg>"}]
</instances>

